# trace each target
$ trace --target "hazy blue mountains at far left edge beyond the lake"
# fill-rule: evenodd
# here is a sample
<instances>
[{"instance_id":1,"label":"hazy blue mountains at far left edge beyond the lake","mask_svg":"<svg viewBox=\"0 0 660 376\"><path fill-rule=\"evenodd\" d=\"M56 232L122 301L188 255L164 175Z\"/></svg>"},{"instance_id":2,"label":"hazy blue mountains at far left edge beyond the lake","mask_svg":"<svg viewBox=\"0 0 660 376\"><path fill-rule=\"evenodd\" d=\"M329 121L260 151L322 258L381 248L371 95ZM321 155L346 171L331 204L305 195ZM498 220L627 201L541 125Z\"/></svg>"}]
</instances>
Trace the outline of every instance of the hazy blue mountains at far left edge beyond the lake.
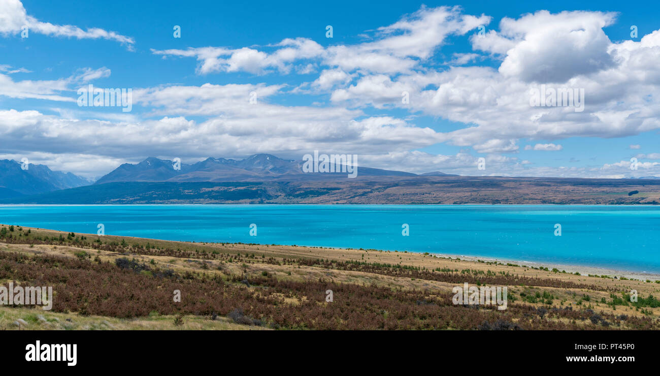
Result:
<instances>
[{"instance_id":1,"label":"hazy blue mountains at far left edge beyond the lake","mask_svg":"<svg viewBox=\"0 0 660 376\"><path fill-rule=\"evenodd\" d=\"M27 169L9 159L0 160L0 195L16 197L41 194L89 185L90 182L71 172L53 171L44 165L28 164Z\"/></svg>"}]
</instances>

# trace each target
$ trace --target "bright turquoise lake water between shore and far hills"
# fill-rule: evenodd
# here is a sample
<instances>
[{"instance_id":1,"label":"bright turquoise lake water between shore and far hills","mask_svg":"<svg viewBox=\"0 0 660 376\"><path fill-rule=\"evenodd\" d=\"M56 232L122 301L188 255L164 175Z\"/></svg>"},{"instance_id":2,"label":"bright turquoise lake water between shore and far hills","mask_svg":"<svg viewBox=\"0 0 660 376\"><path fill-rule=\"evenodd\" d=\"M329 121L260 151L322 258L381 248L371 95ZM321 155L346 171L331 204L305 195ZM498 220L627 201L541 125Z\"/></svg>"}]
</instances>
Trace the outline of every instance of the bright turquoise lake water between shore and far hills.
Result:
<instances>
[{"instance_id":1,"label":"bright turquoise lake water between shore and far hills","mask_svg":"<svg viewBox=\"0 0 660 376\"><path fill-rule=\"evenodd\" d=\"M96 233L103 223L106 235L172 241L409 250L660 273L657 206L0 206L0 223L75 233Z\"/></svg>"}]
</instances>

